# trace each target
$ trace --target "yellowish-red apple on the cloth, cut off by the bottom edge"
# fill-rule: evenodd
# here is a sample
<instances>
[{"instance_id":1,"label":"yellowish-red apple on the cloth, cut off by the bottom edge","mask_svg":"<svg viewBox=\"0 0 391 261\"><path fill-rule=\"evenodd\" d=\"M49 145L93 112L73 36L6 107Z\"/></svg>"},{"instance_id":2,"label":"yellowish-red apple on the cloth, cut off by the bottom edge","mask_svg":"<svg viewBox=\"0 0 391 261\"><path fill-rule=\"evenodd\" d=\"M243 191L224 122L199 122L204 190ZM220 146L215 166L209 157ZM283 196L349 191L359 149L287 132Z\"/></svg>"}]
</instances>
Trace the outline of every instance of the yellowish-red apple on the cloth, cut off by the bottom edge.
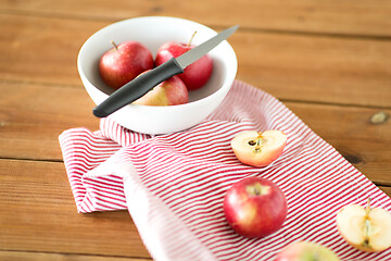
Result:
<instances>
[{"instance_id":1,"label":"yellowish-red apple on the cloth, cut off by the bottom edge","mask_svg":"<svg viewBox=\"0 0 391 261\"><path fill-rule=\"evenodd\" d=\"M275 261L340 261L330 249L311 241L295 241L283 248Z\"/></svg>"}]
</instances>

